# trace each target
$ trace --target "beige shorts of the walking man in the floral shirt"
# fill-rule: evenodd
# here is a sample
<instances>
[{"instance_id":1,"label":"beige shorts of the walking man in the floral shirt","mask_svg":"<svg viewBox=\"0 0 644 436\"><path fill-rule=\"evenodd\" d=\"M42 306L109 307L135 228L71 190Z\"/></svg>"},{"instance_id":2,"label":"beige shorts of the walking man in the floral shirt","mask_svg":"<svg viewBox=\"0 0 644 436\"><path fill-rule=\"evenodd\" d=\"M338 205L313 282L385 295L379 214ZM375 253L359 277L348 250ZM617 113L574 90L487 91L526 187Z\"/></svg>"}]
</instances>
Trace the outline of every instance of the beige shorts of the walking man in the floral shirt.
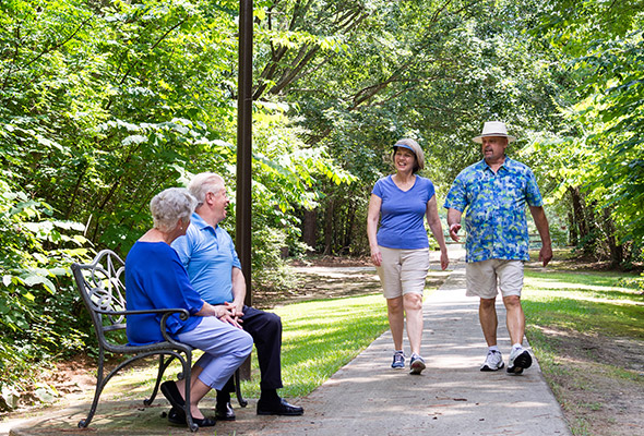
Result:
<instances>
[{"instance_id":1,"label":"beige shorts of the walking man in the floral shirt","mask_svg":"<svg viewBox=\"0 0 644 436\"><path fill-rule=\"evenodd\" d=\"M467 263L465 268L467 296L494 299L518 295L523 288L523 261L488 259Z\"/></svg>"}]
</instances>

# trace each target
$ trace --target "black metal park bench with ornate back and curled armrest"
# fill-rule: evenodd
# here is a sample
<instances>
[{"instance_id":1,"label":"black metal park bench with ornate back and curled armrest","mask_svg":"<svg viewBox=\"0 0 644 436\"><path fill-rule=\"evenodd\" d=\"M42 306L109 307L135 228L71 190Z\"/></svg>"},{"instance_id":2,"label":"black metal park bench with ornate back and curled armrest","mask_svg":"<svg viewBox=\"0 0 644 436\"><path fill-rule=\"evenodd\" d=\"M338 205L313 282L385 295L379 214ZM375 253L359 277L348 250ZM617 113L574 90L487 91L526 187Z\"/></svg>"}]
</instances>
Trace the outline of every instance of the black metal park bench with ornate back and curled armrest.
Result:
<instances>
[{"instance_id":1,"label":"black metal park bench with ornate back and curled armrest","mask_svg":"<svg viewBox=\"0 0 644 436\"><path fill-rule=\"evenodd\" d=\"M96 339L98 340L96 390L87 417L79 422L79 427L81 428L87 427L92 422L96 413L100 393L110 378L120 370L136 361L158 355L156 383L150 398L143 401L145 405L151 405L154 401L162 384L163 375L175 359L181 363L182 371L179 374L179 379L190 382L193 349L186 343L174 340L166 332L166 322L171 314L179 313L181 319L187 319L190 314L184 308L128 311L126 308L124 270L123 261L109 250L99 252L91 264L72 264L76 287L90 312ZM124 335L127 316L151 313L162 314L160 332L165 340L147 346L130 346ZM122 355L124 360L105 375L105 359L107 353ZM235 386L239 404L246 407L247 401L241 397L239 370L235 373ZM184 412L188 427L192 432L199 429L199 426L192 421L190 414L190 383L187 383L186 386Z\"/></svg>"}]
</instances>

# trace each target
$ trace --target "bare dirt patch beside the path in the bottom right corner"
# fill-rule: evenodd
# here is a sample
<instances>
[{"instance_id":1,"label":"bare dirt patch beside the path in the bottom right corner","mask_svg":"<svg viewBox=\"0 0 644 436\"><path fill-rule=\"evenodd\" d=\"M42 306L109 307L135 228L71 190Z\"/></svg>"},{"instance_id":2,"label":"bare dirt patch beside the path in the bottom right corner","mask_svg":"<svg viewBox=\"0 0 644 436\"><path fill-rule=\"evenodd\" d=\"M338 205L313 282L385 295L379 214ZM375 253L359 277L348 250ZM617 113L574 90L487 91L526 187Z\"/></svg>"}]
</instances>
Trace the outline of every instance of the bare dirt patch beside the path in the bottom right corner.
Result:
<instances>
[{"instance_id":1,"label":"bare dirt patch beside the path in the bottom right corner","mask_svg":"<svg viewBox=\"0 0 644 436\"><path fill-rule=\"evenodd\" d=\"M574 434L644 434L644 342L540 330L557 350L544 374Z\"/></svg>"}]
</instances>

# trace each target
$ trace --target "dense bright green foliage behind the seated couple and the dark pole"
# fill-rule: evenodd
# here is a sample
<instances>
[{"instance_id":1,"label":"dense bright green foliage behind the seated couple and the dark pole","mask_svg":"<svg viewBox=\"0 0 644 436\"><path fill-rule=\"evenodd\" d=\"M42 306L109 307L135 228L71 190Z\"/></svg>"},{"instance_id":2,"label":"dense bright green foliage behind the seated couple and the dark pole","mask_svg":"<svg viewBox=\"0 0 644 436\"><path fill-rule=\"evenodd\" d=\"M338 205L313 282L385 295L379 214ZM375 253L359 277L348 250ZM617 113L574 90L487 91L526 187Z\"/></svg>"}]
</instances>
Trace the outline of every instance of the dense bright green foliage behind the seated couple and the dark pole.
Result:
<instances>
[{"instance_id":1,"label":"dense bright green foliage behind the seated couple and the dark pole","mask_svg":"<svg viewBox=\"0 0 644 436\"><path fill-rule=\"evenodd\" d=\"M84 246L124 256L152 225L152 196L196 172L219 172L235 186L237 7L206 0L0 4L7 208L0 307L2 332L14 338L0 342L2 362L10 359L3 375L13 374L8 380L21 376L16 365L92 342L68 272L70 262L86 259ZM282 106L255 106L253 164L255 280L276 289L293 286L279 253L298 247L294 210L317 204L317 183L353 180L324 148L306 146ZM83 238L72 237L79 231Z\"/></svg>"}]
</instances>

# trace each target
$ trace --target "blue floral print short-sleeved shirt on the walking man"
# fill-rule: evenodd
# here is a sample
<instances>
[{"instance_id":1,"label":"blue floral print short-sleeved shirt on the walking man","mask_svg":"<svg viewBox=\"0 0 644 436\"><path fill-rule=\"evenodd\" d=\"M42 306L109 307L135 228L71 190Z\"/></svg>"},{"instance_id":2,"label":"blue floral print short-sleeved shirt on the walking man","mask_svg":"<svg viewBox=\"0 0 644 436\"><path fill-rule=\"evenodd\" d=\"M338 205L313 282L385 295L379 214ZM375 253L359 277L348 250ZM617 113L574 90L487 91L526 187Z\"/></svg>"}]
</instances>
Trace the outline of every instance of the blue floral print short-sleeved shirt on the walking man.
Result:
<instances>
[{"instance_id":1,"label":"blue floral print short-sleeved shirt on the walking man","mask_svg":"<svg viewBox=\"0 0 644 436\"><path fill-rule=\"evenodd\" d=\"M527 261L526 203L544 201L533 171L505 156L494 174L485 159L465 168L454 180L445 208L465 215L467 262L492 258Z\"/></svg>"}]
</instances>

